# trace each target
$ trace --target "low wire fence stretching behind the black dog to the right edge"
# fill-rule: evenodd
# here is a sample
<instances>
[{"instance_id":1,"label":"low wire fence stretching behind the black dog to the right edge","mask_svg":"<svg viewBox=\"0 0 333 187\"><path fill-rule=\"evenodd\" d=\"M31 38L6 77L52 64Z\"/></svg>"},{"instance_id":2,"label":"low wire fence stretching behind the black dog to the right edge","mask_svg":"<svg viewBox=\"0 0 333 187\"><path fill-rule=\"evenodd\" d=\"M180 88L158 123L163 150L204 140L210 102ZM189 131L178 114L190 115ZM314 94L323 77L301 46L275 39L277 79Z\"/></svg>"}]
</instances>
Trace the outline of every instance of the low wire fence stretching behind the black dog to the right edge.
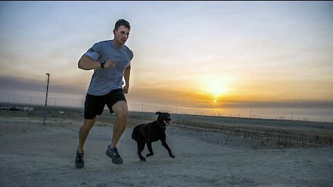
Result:
<instances>
[{"instance_id":1,"label":"low wire fence stretching behind the black dog to the right edge","mask_svg":"<svg viewBox=\"0 0 333 187\"><path fill-rule=\"evenodd\" d=\"M144 121L154 121L151 116L131 116ZM234 136L245 136L254 139L267 139L278 143L296 143L310 147L332 147L333 132L314 132L306 130L281 130L274 127L255 127L246 125L223 125L221 123L198 122L190 120L174 120L173 125L196 130L221 132Z\"/></svg>"}]
</instances>

